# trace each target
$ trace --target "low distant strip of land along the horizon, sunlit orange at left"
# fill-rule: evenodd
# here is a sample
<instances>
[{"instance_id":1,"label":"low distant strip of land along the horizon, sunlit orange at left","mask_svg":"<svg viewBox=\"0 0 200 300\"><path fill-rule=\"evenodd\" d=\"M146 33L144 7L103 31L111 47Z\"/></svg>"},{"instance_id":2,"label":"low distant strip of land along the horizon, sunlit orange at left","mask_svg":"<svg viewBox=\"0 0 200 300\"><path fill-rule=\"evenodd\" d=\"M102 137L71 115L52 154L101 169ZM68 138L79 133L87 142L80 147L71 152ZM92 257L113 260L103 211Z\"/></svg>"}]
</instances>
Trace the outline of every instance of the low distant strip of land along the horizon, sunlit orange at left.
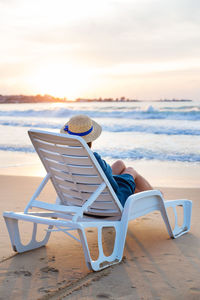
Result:
<instances>
[{"instance_id":1,"label":"low distant strip of land along the horizon, sunlit orange at left","mask_svg":"<svg viewBox=\"0 0 200 300\"><path fill-rule=\"evenodd\" d=\"M150 100L150 99L149 99ZM51 95L0 95L0 104L5 103L68 103L68 102L147 102L148 100L129 99L126 97L120 98L77 98L69 100L67 98L58 98ZM155 102L191 102L189 99L160 99L151 100Z\"/></svg>"}]
</instances>

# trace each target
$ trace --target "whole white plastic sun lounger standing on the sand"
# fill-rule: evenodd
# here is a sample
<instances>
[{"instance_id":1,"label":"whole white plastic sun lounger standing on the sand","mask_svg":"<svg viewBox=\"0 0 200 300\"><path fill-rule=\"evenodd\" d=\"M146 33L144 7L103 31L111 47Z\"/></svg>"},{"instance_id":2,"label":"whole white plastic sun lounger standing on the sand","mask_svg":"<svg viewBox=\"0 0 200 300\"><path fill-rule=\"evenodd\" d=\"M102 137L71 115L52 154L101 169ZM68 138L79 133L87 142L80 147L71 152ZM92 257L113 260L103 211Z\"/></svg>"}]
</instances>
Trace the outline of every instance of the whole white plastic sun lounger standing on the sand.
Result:
<instances>
[{"instance_id":1,"label":"whole white plastic sun lounger standing on the sand","mask_svg":"<svg viewBox=\"0 0 200 300\"><path fill-rule=\"evenodd\" d=\"M97 271L121 261L130 220L158 210L170 237L177 238L189 231L191 201L164 201L160 191L152 190L130 196L123 208L92 151L81 137L40 130L30 130L29 136L47 175L24 212L3 214L14 251L24 252L44 246L51 232L63 231L82 243L88 268ZM58 195L55 204L37 199L49 179ZM177 206L183 207L182 226L178 225ZM174 210L174 229L171 228L168 219L167 207ZM42 211L32 212L32 208ZM18 220L34 224L32 238L27 245L21 243ZM38 224L47 225L45 238L40 242L36 240ZM99 257L95 261L92 260L88 247L85 234L87 227L95 227L98 230ZM114 248L109 256L103 252L104 227L115 229ZM78 231L80 240L73 235L73 230Z\"/></svg>"}]
</instances>

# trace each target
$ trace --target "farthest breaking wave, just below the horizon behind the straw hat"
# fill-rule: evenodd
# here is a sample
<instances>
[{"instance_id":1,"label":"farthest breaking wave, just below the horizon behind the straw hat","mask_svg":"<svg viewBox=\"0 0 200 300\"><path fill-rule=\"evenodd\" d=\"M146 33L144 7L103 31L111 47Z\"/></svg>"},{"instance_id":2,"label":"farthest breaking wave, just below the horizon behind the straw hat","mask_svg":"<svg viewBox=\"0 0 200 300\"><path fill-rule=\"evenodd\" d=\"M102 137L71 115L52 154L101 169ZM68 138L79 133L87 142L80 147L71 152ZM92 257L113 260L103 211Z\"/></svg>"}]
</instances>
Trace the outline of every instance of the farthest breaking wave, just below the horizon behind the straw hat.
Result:
<instances>
[{"instance_id":1,"label":"farthest breaking wave, just below the horizon behind the straw hat","mask_svg":"<svg viewBox=\"0 0 200 300\"><path fill-rule=\"evenodd\" d=\"M54 109L27 109L0 111L4 117L37 117L37 118L70 118L72 115L87 114L92 118L126 118L135 120L166 119L166 120L200 120L200 106L183 106L179 108L165 107L162 109L149 106L145 109L138 107L101 107L99 109L70 109L66 107Z\"/></svg>"}]
</instances>

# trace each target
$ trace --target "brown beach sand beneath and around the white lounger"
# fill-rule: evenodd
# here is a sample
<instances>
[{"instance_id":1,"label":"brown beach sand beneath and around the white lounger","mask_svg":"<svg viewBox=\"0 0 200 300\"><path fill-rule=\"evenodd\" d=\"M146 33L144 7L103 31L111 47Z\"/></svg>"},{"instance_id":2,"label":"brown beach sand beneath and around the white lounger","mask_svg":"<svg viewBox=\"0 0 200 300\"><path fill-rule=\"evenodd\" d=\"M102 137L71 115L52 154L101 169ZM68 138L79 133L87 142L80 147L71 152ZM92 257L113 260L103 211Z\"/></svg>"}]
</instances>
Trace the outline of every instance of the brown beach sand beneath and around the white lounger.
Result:
<instances>
[{"instance_id":1,"label":"brown beach sand beneath and around the white lounger","mask_svg":"<svg viewBox=\"0 0 200 300\"><path fill-rule=\"evenodd\" d=\"M1 213L22 211L40 181L0 176ZM0 299L200 299L200 189L161 190L165 199L193 200L190 233L172 240L158 212L141 217L129 225L123 261L100 272L87 269L81 245L63 233L52 234L46 247L15 254L1 214ZM55 199L50 185L42 197ZM28 241L30 228L22 229ZM95 233L88 235L96 255Z\"/></svg>"}]
</instances>

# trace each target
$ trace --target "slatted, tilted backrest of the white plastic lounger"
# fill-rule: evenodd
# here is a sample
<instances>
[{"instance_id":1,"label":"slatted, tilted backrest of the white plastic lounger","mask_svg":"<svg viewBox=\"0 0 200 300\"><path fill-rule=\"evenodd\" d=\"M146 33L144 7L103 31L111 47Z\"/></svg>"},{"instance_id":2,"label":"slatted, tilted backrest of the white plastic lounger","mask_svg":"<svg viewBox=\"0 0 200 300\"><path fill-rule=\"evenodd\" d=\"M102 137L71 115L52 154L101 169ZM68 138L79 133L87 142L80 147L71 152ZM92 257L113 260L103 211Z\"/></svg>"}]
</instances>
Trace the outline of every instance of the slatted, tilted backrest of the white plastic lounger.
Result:
<instances>
[{"instance_id":1,"label":"slatted, tilted backrest of the white plastic lounger","mask_svg":"<svg viewBox=\"0 0 200 300\"><path fill-rule=\"evenodd\" d=\"M30 130L30 139L62 205L81 207L103 183L106 187L91 204L89 213L121 215L122 206L92 151L78 136Z\"/></svg>"}]
</instances>

